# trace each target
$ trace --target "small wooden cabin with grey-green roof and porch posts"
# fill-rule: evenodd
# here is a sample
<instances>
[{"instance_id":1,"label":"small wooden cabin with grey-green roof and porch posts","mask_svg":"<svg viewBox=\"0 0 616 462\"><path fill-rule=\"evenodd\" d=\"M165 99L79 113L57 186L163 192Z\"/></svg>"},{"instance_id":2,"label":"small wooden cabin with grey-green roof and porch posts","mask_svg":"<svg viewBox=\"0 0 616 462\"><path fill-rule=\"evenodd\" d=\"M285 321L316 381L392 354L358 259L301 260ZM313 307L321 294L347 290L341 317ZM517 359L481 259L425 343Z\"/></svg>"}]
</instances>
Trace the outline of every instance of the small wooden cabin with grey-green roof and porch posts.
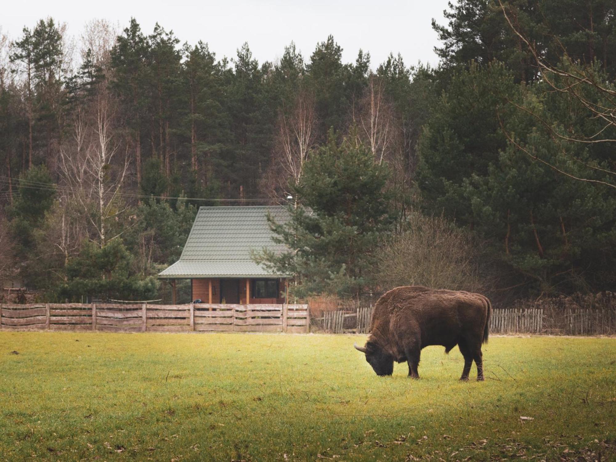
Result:
<instances>
[{"instance_id":1,"label":"small wooden cabin with grey-green roof and porch posts","mask_svg":"<svg viewBox=\"0 0 616 462\"><path fill-rule=\"evenodd\" d=\"M200 207L180 259L158 275L173 288L190 279L192 300L202 303L285 303L286 275L273 274L251 259L251 251L282 251L272 241L267 214L289 218L282 206Z\"/></svg>"}]
</instances>

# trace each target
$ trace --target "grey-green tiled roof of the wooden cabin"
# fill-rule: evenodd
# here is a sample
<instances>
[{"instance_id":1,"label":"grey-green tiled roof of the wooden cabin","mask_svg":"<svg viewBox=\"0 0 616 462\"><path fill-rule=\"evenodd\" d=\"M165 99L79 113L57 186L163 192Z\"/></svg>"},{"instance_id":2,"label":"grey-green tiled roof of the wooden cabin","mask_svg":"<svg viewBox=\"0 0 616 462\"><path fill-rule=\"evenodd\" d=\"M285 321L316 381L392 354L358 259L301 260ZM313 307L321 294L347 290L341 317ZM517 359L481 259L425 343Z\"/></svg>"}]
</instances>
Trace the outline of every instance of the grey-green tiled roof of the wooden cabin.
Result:
<instances>
[{"instance_id":1,"label":"grey-green tiled roof of the wooden cabin","mask_svg":"<svg viewBox=\"0 0 616 462\"><path fill-rule=\"evenodd\" d=\"M279 277L250 258L251 249L283 251L272 241L267 213L288 220L282 206L200 207L179 261L160 278Z\"/></svg>"}]
</instances>

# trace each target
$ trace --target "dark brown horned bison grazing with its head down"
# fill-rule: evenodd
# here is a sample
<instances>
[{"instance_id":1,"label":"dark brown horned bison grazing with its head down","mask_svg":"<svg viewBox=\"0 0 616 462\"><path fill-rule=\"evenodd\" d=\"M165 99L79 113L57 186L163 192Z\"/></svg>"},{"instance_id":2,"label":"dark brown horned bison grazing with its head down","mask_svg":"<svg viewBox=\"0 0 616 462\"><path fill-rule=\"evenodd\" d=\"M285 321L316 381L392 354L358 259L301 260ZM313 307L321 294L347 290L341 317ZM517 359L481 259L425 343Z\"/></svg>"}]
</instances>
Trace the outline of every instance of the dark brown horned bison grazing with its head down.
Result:
<instances>
[{"instance_id":1,"label":"dark brown horned bison grazing with its head down","mask_svg":"<svg viewBox=\"0 0 616 462\"><path fill-rule=\"evenodd\" d=\"M468 380L473 360L477 380L484 380L481 344L488 341L492 304L487 297L464 291L402 286L383 294L370 322L363 347L376 375L392 375L394 361L408 362L408 375L419 378L421 349L442 345L448 353L458 345L464 357L460 380Z\"/></svg>"}]
</instances>

